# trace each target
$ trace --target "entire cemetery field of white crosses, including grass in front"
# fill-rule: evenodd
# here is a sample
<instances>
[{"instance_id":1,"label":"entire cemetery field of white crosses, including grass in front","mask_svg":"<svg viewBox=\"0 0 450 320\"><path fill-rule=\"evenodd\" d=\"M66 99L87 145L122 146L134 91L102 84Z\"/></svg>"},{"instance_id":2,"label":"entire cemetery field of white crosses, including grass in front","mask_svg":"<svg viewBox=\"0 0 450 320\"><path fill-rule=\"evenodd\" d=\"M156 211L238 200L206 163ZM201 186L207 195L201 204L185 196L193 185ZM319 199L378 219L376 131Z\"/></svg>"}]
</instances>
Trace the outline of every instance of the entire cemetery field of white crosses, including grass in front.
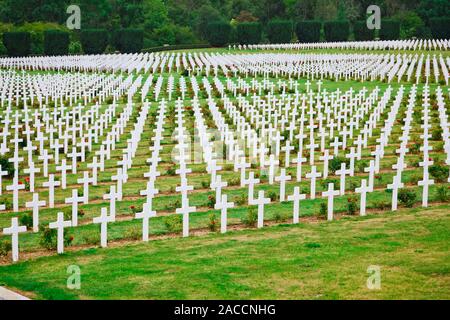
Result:
<instances>
[{"instance_id":1,"label":"entire cemetery field of white crosses, including grass in front","mask_svg":"<svg viewBox=\"0 0 450 320\"><path fill-rule=\"evenodd\" d=\"M0 58L0 286L449 298L448 43L402 44Z\"/></svg>"}]
</instances>

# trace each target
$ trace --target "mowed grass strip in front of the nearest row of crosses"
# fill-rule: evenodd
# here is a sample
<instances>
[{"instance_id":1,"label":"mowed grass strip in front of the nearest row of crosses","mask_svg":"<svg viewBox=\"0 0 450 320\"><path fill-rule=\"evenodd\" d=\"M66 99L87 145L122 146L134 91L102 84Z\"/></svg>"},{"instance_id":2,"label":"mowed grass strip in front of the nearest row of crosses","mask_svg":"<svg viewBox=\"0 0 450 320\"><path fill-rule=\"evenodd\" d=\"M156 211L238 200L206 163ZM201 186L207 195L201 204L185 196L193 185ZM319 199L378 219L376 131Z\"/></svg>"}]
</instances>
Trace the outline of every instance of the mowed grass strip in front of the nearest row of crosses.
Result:
<instances>
[{"instance_id":1,"label":"mowed grass strip in front of the nearest row of crosses","mask_svg":"<svg viewBox=\"0 0 450 320\"><path fill-rule=\"evenodd\" d=\"M0 285L38 299L449 299L449 230L448 206L408 209L41 257L0 267Z\"/></svg>"}]
</instances>

